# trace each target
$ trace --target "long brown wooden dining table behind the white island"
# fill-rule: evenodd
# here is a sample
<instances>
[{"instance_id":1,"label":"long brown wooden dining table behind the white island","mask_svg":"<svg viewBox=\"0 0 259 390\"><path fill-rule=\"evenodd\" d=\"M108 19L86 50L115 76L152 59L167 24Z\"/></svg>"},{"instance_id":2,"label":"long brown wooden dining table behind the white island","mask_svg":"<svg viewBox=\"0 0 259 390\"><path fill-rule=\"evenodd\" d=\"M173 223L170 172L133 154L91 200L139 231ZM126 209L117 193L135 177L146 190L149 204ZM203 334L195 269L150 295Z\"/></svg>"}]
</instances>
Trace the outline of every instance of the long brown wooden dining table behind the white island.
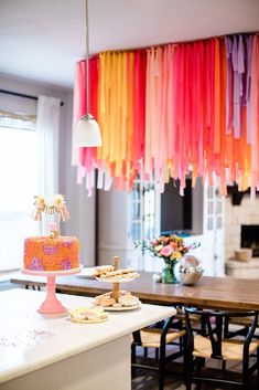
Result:
<instances>
[{"instance_id":1,"label":"long brown wooden dining table behind the white island","mask_svg":"<svg viewBox=\"0 0 259 390\"><path fill-rule=\"evenodd\" d=\"M45 277L18 273L11 277L18 285L43 287ZM111 283L95 278L61 276L56 278L56 292L85 296L96 296L111 291ZM203 276L194 286L164 284L153 280L152 272L140 272L140 277L121 283L120 288L137 295L141 302L158 305L186 305L222 309L259 310L259 281L234 277Z\"/></svg>"}]
</instances>

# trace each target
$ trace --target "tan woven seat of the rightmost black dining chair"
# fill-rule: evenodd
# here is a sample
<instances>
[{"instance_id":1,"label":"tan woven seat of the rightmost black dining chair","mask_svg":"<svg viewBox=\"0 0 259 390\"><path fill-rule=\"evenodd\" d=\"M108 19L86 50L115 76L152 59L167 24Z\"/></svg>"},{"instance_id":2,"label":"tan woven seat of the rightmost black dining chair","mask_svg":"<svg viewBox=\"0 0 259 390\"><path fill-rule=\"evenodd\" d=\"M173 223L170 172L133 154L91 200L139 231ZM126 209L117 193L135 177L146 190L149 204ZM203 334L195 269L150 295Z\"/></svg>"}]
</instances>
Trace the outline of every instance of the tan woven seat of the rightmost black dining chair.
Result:
<instances>
[{"instance_id":1,"label":"tan woven seat of the rightmost black dining chair","mask_svg":"<svg viewBox=\"0 0 259 390\"><path fill-rule=\"evenodd\" d=\"M253 354L259 346L259 341L250 342L249 355ZM242 360L244 341L225 339L222 342L222 355L224 360ZM199 358L212 357L211 340L204 336L197 335L194 337L193 356Z\"/></svg>"}]
</instances>

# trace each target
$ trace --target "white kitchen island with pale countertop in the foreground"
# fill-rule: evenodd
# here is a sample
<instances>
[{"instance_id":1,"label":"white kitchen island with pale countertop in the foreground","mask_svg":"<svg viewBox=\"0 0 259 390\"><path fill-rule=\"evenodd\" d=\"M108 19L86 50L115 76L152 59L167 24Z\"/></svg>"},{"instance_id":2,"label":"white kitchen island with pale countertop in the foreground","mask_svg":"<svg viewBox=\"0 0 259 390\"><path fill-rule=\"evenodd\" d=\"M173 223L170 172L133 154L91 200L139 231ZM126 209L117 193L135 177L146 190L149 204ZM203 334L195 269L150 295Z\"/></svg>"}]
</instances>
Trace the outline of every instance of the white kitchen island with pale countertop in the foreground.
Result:
<instances>
[{"instance_id":1,"label":"white kitchen island with pale countertop in the foreground","mask_svg":"<svg viewBox=\"0 0 259 390\"><path fill-rule=\"evenodd\" d=\"M142 305L109 313L99 324L37 313L45 292L0 293L1 390L130 390L132 331L175 314L173 307ZM69 309L91 298L60 295Z\"/></svg>"}]
</instances>

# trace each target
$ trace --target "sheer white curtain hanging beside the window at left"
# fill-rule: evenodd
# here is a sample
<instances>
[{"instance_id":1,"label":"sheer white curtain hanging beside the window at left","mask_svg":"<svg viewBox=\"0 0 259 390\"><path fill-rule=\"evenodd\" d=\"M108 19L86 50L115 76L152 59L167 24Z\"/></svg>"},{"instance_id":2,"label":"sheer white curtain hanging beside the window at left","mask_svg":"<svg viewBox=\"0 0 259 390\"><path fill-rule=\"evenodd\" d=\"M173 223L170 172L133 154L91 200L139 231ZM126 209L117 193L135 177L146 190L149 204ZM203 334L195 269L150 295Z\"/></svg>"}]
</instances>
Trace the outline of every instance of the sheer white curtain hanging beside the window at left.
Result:
<instances>
[{"instance_id":1,"label":"sheer white curtain hanging beside the window at left","mask_svg":"<svg viewBox=\"0 0 259 390\"><path fill-rule=\"evenodd\" d=\"M58 191L58 131L61 101L39 96L37 123L40 157L40 193L52 202Z\"/></svg>"}]
</instances>

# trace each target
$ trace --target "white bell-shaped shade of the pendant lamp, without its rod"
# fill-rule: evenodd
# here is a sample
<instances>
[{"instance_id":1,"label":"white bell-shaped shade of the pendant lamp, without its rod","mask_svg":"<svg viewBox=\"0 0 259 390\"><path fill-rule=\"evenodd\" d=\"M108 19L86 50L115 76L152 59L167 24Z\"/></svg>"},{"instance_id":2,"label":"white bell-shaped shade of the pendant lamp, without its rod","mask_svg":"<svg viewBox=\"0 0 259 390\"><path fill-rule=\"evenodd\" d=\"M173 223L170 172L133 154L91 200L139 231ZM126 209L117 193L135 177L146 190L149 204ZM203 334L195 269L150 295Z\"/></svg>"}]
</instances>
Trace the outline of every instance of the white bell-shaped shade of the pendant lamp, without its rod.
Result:
<instances>
[{"instance_id":1,"label":"white bell-shaped shade of the pendant lamp, without its rod","mask_svg":"<svg viewBox=\"0 0 259 390\"><path fill-rule=\"evenodd\" d=\"M76 127L76 146L101 146L100 129L90 114L84 115Z\"/></svg>"}]
</instances>

